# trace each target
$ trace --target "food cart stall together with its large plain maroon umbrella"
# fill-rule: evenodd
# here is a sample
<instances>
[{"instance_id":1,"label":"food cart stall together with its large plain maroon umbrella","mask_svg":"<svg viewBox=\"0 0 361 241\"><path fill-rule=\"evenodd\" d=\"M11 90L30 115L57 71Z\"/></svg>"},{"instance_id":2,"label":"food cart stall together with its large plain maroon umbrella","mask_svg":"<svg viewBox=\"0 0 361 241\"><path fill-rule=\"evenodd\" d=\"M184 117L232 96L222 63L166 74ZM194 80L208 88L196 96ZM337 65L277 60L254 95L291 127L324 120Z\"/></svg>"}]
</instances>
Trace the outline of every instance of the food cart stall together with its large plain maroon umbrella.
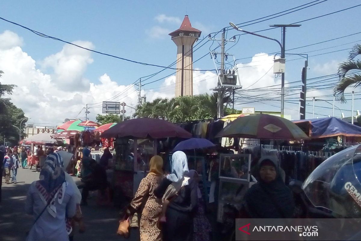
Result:
<instances>
[{"instance_id":1,"label":"food cart stall together with its large plain maroon umbrella","mask_svg":"<svg viewBox=\"0 0 361 241\"><path fill-rule=\"evenodd\" d=\"M152 145L152 154L156 155L159 139L191 138L192 136L169 121L138 118L114 125L104 131L101 137L115 138L114 189L121 190L126 197L132 198L138 189L140 180L146 175L149 165L149 160L145 156L142 157L144 154L138 152L139 141L147 139L147 146Z\"/></svg>"}]
</instances>

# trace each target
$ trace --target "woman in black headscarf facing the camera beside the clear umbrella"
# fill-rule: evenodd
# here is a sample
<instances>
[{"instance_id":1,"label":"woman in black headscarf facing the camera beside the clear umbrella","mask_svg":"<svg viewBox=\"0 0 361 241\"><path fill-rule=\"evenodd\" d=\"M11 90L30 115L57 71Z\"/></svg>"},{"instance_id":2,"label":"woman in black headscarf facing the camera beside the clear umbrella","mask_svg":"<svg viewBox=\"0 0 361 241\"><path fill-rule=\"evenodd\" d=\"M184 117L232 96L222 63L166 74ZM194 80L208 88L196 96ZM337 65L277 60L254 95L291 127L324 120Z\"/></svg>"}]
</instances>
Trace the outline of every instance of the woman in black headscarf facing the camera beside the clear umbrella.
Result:
<instances>
[{"instance_id":1,"label":"woman in black headscarf facing the camera beside the clear umbrella","mask_svg":"<svg viewBox=\"0 0 361 241\"><path fill-rule=\"evenodd\" d=\"M258 182L247 190L242 218L292 218L295 203L284 184L274 156L262 157L257 166Z\"/></svg>"}]
</instances>

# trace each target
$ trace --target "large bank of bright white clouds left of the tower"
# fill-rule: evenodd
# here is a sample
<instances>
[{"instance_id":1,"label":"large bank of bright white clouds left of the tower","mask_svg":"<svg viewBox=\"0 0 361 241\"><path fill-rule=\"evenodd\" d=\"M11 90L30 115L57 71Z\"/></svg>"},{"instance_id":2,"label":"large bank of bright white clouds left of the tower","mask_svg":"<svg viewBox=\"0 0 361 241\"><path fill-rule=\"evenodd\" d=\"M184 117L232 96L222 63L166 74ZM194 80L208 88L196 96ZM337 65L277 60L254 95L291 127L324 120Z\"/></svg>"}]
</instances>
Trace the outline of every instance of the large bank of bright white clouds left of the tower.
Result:
<instances>
[{"instance_id":1,"label":"large bank of bright white clouds left of the tower","mask_svg":"<svg viewBox=\"0 0 361 241\"><path fill-rule=\"evenodd\" d=\"M61 124L65 118L84 117L84 110L80 115L78 113L87 103L99 103L119 93L122 94L113 101L125 101L127 105L135 106L137 99L135 87L119 86L107 74L99 78L99 84L88 83L86 91L61 88L72 83L66 82L65 77L57 71L62 69L65 72L77 74L77 78L82 80L82 73L85 71L86 65L92 61L89 53L64 46L61 52L49 56L44 61L47 66L55 68L55 73L51 75L36 68L35 60L21 47L14 47L15 44L16 42L9 44L6 49L0 49L0 66L4 71L0 81L3 84L18 86L14 88L12 95L6 97L11 98L17 107L22 108L26 116L32 117L31 122L56 125ZM82 42L81 45L93 47L89 42ZM77 72L69 63L75 64L81 68L81 71ZM62 78L63 82L60 82L59 79ZM97 107L89 109L90 119L95 120L96 114L101 113L102 109L99 104L89 107ZM132 112L128 107L126 111L126 114L129 115Z\"/></svg>"}]
</instances>

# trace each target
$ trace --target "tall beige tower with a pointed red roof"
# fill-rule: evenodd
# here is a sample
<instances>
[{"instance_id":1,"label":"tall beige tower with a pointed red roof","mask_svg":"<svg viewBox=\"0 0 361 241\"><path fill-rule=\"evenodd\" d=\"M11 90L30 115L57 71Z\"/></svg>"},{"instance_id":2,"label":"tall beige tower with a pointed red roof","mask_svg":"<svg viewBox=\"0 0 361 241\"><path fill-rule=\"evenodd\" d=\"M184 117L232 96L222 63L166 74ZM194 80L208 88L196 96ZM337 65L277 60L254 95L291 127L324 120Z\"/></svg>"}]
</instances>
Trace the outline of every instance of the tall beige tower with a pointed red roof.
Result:
<instances>
[{"instance_id":1,"label":"tall beige tower with a pointed red roof","mask_svg":"<svg viewBox=\"0 0 361 241\"><path fill-rule=\"evenodd\" d=\"M169 34L177 45L177 73L175 75L175 97L193 95L193 44L201 31L192 27L188 15L184 16L179 29Z\"/></svg>"}]
</instances>

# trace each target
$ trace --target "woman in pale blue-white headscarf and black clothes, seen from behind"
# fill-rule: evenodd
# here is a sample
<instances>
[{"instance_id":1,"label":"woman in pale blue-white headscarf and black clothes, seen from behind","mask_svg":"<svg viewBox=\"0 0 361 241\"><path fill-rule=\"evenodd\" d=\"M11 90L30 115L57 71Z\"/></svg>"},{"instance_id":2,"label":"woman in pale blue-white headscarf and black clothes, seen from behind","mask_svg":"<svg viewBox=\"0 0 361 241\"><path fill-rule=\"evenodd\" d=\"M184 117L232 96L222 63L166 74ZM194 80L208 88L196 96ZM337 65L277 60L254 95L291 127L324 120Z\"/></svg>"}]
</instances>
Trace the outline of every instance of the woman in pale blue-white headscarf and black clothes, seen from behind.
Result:
<instances>
[{"instance_id":1,"label":"woman in pale blue-white headscarf and black clothes, seen from behind","mask_svg":"<svg viewBox=\"0 0 361 241\"><path fill-rule=\"evenodd\" d=\"M197 205L197 189L185 180L189 179L187 156L183 151L172 155L171 173L164 177L154 191L162 198L168 186L181 185L176 197L172 198L166 210L166 222L162 224L163 241L191 241L193 234L192 212Z\"/></svg>"}]
</instances>

